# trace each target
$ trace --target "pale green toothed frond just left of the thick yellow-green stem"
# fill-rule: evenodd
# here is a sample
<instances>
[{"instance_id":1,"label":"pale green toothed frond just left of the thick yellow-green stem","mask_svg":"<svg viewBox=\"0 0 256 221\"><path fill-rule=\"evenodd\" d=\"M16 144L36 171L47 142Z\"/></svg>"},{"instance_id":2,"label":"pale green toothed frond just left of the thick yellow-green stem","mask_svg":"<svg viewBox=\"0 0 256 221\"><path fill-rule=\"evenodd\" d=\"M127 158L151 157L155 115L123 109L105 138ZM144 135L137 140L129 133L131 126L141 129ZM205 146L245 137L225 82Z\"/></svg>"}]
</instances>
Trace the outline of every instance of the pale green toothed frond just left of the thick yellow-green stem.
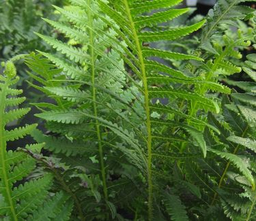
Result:
<instances>
[{"instance_id":1,"label":"pale green toothed frond just left of the thick yellow-green stem","mask_svg":"<svg viewBox=\"0 0 256 221\"><path fill-rule=\"evenodd\" d=\"M85 3L81 5L79 2L72 1L70 6L63 9L55 7L61 14L61 22L44 19L66 35L69 38L68 43L38 33L48 44L61 52L58 55L40 52L55 63L58 69L40 55L31 54L27 57L26 63L33 71L29 73L31 78L42 84L44 88L37 83L30 83L31 86L53 97L56 102L56 104L37 103L35 105L44 112L37 116L48 120L47 129L57 133L59 137L42 135L40 131L35 131L33 137L37 141L45 141L45 148L53 151L57 158L62 158L71 170L81 166L76 176L78 182L74 183L74 177L69 175L66 176L66 182L72 186L80 204L86 204L82 209L83 214L86 215L80 218L91 220L95 218L97 210L101 211L97 215L98 219L117 216L115 205L111 201L114 201L114 194L122 194L122 189L115 191L109 186L132 182L124 175L119 177L117 165L121 162L124 165L127 164L125 156L131 157L134 163L138 161L139 168L143 168L139 162L143 161L142 155L141 159L134 156L132 158L133 151L141 154L141 150L137 148L138 141L132 138L131 130L122 129L124 124L127 124L126 129L137 127L128 120L127 115L136 119L134 122L137 125L143 119L138 119L138 115L141 114L139 113L141 99L136 97L139 93L137 87L131 86L124 89L126 86L124 63L115 50L122 51L126 49L125 46L110 50L112 42L117 41L115 39L117 33L103 20L92 14L92 12L102 14L98 4L94 1ZM106 39L105 32L111 37ZM129 77L127 81L128 84L130 84L129 81L134 82ZM125 110L127 107L128 109ZM130 109L134 112L130 112ZM135 130L141 133L139 129ZM124 142L130 143L135 150L125 150ZM110 148L114 149L110 150ZM121 158L120 150L125 154ZM81 163L77 161L78 157L81 158ZM88 175L84 175L85 171ZM117 173L115 175L119 177L118 182L113 180L112 173ZM139 171L131 175L134 180L139 179L138 173ZM79 197L85 190L85 184L88 184L90 191L85 191L83 197Z\"/></svg>"}]
</instances>

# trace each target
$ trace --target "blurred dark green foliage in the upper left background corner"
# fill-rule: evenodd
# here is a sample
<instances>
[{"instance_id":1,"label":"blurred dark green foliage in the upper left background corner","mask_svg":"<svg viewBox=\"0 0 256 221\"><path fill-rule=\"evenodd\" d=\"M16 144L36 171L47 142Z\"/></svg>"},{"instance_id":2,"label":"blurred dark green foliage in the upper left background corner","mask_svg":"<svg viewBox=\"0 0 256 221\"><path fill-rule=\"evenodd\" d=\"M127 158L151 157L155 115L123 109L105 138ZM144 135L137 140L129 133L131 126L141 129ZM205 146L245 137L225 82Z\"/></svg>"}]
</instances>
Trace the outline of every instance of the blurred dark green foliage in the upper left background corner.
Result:
<instances>
[{"instance_id":1,"label":"blurred dark green foliage in the upper left background corner","mask_svg":"<svg viewBox=\"0 0 256 221\"><path fill-rule=\"evenodd\" d=\"M63 0L0 0L0 62L35 49L49 50L34 32L56 35L51 33L42 17L57 16L52 5L61 6L64 3ZM27 75L24 68L18 70L23 70L18 73L21 84Z\"/></svg>"}]
</instances>

